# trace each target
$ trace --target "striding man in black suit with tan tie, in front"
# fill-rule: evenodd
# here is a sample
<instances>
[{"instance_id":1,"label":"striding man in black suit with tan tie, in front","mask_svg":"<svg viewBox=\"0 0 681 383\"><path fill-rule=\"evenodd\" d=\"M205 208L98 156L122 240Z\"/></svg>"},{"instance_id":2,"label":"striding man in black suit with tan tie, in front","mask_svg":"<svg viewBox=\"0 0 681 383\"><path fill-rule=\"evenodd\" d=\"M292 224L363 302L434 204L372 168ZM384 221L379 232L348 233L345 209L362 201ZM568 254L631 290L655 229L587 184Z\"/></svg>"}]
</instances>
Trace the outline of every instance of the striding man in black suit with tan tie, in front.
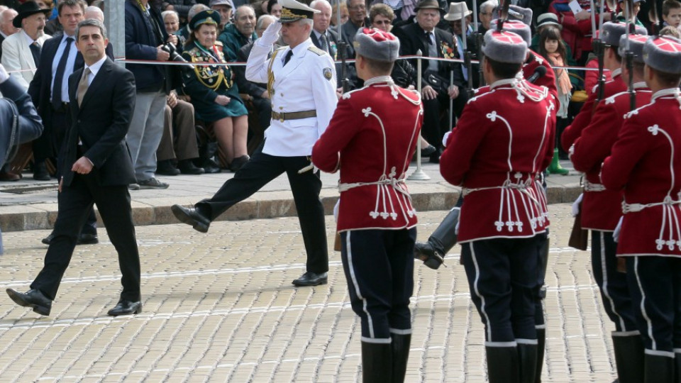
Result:
<instances>
[{"instance_id":1,"label":"striding man in black suit with tan tie, in front","mask_svg":"<svg viewBox=\"0 0 681 383\"><path fill-rule=\"evenodd\" d=\"M104 54L109 40L100 21L82 21L76 36L85 67L69 77L72 125L60 153L62 196L55 238L31 289L25 294L7 289L7 294L20 306L50 315L78 232L94 203L118 252L123 274L121 300L109 315L140 313L140 255L128 193L135 173L125 140L135 109L135 77Z\"/></svg>"}]
</instances>

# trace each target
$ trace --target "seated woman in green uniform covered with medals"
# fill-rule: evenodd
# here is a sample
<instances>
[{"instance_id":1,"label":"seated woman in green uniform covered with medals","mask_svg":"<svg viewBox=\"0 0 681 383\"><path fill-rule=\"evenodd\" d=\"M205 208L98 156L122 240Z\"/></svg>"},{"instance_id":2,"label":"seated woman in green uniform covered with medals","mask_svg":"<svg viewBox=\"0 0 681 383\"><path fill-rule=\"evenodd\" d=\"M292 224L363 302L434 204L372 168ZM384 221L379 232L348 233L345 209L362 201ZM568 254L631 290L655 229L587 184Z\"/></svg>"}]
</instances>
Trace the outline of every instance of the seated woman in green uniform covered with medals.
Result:
<instances>
[{"instance_id":1,"label":"seated woman in green uniform covered with medals","mask_svg":"<svg viewBox=\"0 0 681 383\"><path fill-rule=\"evenodd\" d=\"M213 130L236 172L248 162L246 140L248 137L248 111L239 97L239 90L229 67L202 65L225 63L222 45L216 41L220 13L202 11L189 23L192 33L184 44L182 57L194 64L193 70L184 70L184 92L191 97L196 118L214 123Z\"/></svg>"}]
</instances>

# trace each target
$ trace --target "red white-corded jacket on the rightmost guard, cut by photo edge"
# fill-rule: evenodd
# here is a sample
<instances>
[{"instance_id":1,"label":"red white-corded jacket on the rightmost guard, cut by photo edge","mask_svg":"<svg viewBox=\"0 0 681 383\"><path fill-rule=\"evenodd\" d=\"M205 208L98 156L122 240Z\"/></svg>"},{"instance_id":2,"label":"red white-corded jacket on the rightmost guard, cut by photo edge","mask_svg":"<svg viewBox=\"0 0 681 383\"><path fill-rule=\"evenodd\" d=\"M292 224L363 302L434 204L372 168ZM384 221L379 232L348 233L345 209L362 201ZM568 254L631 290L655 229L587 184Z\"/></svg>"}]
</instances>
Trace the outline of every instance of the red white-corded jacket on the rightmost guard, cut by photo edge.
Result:
<instances>
[{"instance_id":1,"label":"red white-corded jacket on the rightmost guard, cut by photo edge","mask_svg":"<svg viewBox=\"0 0 681 383\"><path fill-rule=\"evenodd\" d=\"M681 94L655 92L628 113L601 181L624 189L617 255L681 257Z\"/></svg>"}]
</instances>

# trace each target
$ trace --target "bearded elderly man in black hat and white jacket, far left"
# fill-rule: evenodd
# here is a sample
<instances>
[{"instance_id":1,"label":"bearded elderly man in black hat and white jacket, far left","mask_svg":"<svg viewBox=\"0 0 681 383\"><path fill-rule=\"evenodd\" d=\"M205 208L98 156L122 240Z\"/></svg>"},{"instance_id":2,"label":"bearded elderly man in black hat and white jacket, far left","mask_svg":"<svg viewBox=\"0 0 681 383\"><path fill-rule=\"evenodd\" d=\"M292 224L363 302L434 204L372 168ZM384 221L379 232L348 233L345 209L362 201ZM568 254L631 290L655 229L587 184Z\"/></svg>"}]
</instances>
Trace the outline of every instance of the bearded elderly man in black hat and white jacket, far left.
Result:
<instances>
[{"instance_id":1,"label":"bearded elderly man in black hat and white jacket, far left","mask_svg":"<svg viewBox=\"0 0 681 383\"><path fill-rule=\"evenodd\" d=\"M43 32L45 17L51 12L50 9L40 9L35 1L21 4L12 21L12 25L21 28L21 32L14 33L2 42L2 65L24 90L28 90L28 84L38 67L43 43L52 37Z\"/></svg>"}]
</instances>

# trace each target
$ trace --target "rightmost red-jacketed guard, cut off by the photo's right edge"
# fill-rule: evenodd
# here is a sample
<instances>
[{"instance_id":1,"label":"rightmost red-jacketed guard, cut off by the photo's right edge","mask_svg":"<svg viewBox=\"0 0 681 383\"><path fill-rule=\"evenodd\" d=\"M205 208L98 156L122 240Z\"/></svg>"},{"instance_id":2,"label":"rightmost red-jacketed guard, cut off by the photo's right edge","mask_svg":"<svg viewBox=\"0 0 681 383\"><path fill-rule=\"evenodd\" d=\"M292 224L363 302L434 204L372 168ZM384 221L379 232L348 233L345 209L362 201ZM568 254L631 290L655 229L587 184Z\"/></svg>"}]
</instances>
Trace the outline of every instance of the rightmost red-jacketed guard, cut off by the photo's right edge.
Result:
<instances>
[{"instance_id":1,"label":"rightmost red-jacketed guard, cut off by the photo's right edge","mask_svg":"<svg viewBox=\"0 0 681 383\"><path fill-rule=\"evenodd\" d=\"M645 347L638 382L672 383L681 374L681 40L649 38L643 60L653 95L624 117L601 182L624 192L617 256Z\"/></svg>"}]
</instances>

